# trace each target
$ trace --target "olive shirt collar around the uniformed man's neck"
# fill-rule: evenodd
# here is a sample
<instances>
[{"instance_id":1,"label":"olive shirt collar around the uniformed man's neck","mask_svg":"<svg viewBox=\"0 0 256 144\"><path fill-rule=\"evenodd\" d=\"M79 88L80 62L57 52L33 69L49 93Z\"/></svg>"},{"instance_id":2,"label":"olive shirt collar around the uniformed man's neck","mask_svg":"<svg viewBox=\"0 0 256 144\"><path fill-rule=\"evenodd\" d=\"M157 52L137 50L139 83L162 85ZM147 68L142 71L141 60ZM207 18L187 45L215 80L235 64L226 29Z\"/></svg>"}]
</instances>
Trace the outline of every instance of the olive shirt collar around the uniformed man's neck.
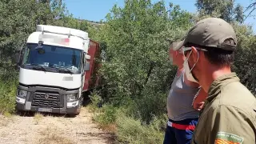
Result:
<instances>
[{"instance_id":1,"label":"olive shirt collar around the uniformed man's neck","mask_svg":"<svg viewBox=\"0 0 256 144\"><path fill-rule=\"evenodd\" d=\"M210 88L208 90L209 96L206 98L206 102L211 102L214 98L216 98L219 92L222 90L222 88L230 82L240 82L240 79L238 78L237 74L224 74L221 77L215 79L214 82L211 83Z\"/></svg>"}]
</instances>

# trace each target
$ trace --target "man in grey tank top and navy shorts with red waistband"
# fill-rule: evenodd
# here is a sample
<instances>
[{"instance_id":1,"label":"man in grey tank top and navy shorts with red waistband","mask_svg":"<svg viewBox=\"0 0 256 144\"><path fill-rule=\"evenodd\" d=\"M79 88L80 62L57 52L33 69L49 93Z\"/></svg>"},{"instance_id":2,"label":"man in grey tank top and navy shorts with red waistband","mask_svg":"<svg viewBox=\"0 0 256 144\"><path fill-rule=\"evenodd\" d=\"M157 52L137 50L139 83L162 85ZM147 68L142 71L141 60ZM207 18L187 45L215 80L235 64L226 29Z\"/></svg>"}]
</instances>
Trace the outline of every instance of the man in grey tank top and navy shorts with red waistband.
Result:
<instances>
[{"instance_id":1,"label":"man in grey tank top and navy shorts with red waistband","mask_svg":"<svg viewBox=\"0 0 256 144\"><path fill-rule=\"evenodd\" d=\"M190 82L183 70L185 56L182 49L174 48L178 42L170 46L170 62L178 66L177 74L171 84L167 98L168 122L164 144L189 144L194 128L198 123L199 110L202 109L206 92L200 90L196 82Z\"/></svg>"}]
</instances>

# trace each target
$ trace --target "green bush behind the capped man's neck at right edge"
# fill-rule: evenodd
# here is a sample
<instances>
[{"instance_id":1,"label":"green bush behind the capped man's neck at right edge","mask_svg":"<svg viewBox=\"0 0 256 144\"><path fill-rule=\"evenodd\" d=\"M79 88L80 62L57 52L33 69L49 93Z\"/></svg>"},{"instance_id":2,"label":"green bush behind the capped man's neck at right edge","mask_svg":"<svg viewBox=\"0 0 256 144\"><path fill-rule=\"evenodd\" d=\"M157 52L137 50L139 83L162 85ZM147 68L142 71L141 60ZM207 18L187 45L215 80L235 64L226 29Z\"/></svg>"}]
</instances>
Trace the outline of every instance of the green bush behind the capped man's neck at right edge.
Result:
<instances>
[{"instance_id":1,"label":"green bush behind the capped man's neck at right edge","mask_svg":"<svg viewBox=\"0 0 256 144\"><path fill-rule=\"evenodd\" d=\"M233 68L241 82L256 95L256 37L248 26L234 25L234 29L238 35L238 47Z\"/></svg>"}]
</instances>

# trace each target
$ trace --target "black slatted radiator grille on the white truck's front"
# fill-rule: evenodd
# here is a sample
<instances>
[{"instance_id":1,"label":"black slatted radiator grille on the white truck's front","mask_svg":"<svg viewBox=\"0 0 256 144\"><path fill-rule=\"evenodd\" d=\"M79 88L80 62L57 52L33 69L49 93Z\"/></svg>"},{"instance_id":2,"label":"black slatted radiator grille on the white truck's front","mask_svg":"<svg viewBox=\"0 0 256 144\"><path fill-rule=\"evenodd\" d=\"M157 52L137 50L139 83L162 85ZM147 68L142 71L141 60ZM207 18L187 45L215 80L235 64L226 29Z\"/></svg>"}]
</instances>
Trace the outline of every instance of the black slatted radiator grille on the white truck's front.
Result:
<instances>
[{"instance_id":1,"label":"black slatted radiator grille on the white truck's front","mask_svg":"<svg viewBox=\"0 0 256 144\"><path fill-rule=\"evenodd\" d=\"M32 106L60 108L63 105L59 94L35 92Z\"/></svg>"}]
</instances>

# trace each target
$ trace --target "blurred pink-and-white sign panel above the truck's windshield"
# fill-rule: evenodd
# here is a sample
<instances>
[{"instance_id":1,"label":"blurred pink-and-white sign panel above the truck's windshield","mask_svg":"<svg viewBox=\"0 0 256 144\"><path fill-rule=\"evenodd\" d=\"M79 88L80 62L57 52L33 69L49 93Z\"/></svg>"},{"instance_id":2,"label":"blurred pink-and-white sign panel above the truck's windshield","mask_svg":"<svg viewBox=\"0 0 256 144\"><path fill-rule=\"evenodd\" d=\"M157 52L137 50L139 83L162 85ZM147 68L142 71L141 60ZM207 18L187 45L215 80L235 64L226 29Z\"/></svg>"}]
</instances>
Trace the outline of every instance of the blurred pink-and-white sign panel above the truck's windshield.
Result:
<instances>
[{"instance_id":1,"label":"blurred pink-and-white sign panel above the truck's windshield","mask_svg":"<svg viewBox=\"0 0 256 144\"><path fill-rule=\"evenodd\" d=\"M52 42L52 43L58 43L60 45L68 46L70 44L70 38L62 38L55 35L49 35L49 34L40 34L39 35L39 42Z\"/></svg>"}]
</instances>

